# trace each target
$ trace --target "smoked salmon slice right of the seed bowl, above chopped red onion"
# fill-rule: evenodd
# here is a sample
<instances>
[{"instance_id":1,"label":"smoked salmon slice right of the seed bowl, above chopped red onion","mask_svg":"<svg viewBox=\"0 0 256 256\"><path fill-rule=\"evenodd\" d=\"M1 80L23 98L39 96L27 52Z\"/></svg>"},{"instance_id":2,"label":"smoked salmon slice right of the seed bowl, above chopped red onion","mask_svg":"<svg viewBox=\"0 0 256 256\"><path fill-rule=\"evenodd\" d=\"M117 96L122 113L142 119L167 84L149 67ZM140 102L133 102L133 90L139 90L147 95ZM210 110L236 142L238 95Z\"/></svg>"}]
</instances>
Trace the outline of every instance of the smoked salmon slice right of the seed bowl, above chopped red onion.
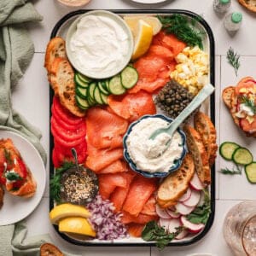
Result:
<instances>
[{"instance_id":1,"label":"smoked salmon slice right of the seed bowl, above chopped red onion","mask_svg":"<svg viewBox=\"0 0 256 256\"><path fill-rule=\"evenodd\" d=\"M109 173L98 175L99 193L107 200L116 187L126 188L127 178L123 173Z\"/></svg>"}]
</instances>

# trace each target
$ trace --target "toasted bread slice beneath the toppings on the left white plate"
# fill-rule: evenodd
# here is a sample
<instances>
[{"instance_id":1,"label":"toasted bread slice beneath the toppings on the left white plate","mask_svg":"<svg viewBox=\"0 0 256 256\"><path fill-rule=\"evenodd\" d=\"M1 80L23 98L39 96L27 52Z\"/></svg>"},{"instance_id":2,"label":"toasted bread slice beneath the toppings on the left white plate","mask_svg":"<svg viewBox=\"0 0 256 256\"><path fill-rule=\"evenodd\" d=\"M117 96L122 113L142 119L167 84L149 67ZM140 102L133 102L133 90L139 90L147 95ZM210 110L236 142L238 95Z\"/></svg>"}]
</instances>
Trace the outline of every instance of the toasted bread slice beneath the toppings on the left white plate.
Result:
<instances>
[{"instance_id":1,"label":"toasted bread slice beneath the toppings on the left white plate","mask_svg":"<svg viewBox=\"0 0 256 256\"><path fill-rule=\"evenodd\" d=\"M7 189L7 191L11 195L18 195L21 197L32 197L37 190L37 183L32 175L32 172L26 166L26 163L24 162L24 160L22 160L19 150L15 148L15 145L10 138L0 140L0 151L1 151L0 154L3 156L5 156L6 152L8 152L9 159L11 159L14 162L15 161L17 162L12 167L14 168L15 172L19 172L21 168L26 169L26 178L23 178L22 180L23 184L20 186L20 188L14 190L12 183L6 183L5 188ZM6 157L4 157L3 159L5 158ZM20 162L22 162L22 166L20 166L19 160Z\"/></svg>"}]
</instances>

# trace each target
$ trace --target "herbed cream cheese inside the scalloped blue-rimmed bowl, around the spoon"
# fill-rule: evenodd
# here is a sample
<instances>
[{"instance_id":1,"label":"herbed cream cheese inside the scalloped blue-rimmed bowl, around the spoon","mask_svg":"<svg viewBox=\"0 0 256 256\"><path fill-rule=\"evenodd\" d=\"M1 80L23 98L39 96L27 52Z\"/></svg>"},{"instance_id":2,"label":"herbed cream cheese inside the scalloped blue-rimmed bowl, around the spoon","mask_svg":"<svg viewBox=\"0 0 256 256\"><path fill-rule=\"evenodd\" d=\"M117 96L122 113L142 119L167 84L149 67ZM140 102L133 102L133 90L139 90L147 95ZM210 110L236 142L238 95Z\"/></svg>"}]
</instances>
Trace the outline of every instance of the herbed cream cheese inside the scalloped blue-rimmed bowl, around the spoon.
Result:
<instances>
[{"instance_id":1,"label":"herbed cream cheese inside the scalloped blue-rimmed bowl, around the spoon","mask_svg":"<svg viewBox=\"0 0 256 256\"><path fill-rule=\"evenodd\" d=\"M137 168L144 172L168 172L183 153L182 137L176 131L172 136L172 143L166 151L166 143L170 136L167 133L161 133L154 140L149 139L150 135L156 129L163 128L169 123L160 118L142 119L127 137L126 144L128 154Z\"/></svg>"}]
</instances>

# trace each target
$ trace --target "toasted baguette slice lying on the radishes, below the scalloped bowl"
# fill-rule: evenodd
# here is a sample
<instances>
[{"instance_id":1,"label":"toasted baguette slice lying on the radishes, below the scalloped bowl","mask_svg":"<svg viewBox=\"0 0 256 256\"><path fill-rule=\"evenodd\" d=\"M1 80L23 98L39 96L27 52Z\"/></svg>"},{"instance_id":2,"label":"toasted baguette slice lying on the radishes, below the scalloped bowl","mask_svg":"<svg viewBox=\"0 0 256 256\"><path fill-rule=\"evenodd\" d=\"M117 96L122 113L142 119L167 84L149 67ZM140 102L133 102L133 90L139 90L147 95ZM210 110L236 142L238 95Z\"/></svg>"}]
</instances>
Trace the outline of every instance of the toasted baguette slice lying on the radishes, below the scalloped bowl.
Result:
<instances>
[{"instance_id":1,"label":"toasted baguette slice lying on the radishes, below the scalloped bowl","mask_svg":"<svg viewBox=\"0 0 256 256\"><path fill-rule=\"evenodd\" d=\"M172 207L189 188L189 181L195 173L195 166L190 154L183 160L182 166L166 177L157 190L156 200L160 207Z\"/></svg>"}]
</instances>

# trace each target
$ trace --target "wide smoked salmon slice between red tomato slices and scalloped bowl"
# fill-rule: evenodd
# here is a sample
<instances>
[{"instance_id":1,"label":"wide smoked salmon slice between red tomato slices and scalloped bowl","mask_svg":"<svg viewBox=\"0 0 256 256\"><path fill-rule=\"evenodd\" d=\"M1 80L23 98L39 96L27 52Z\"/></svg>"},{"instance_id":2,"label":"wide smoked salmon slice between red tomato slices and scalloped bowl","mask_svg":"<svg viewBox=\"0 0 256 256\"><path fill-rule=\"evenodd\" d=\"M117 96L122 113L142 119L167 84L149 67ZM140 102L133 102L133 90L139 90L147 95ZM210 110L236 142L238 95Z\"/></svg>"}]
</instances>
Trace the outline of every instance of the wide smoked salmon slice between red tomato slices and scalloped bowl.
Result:
<instances>
[{"instance_id":1,"label":"wide smoked salmon slice between red tomato slices and scalloped bowl","mask_svg":"<svg viewBox=\"0 0 256 256\"><path fill-rule=\"evenodd\" d=\"M119 148L128 127L127 120L102 108L90 108L86 114L87 141L96 148Z\"/></svg>"}]
</instances>

